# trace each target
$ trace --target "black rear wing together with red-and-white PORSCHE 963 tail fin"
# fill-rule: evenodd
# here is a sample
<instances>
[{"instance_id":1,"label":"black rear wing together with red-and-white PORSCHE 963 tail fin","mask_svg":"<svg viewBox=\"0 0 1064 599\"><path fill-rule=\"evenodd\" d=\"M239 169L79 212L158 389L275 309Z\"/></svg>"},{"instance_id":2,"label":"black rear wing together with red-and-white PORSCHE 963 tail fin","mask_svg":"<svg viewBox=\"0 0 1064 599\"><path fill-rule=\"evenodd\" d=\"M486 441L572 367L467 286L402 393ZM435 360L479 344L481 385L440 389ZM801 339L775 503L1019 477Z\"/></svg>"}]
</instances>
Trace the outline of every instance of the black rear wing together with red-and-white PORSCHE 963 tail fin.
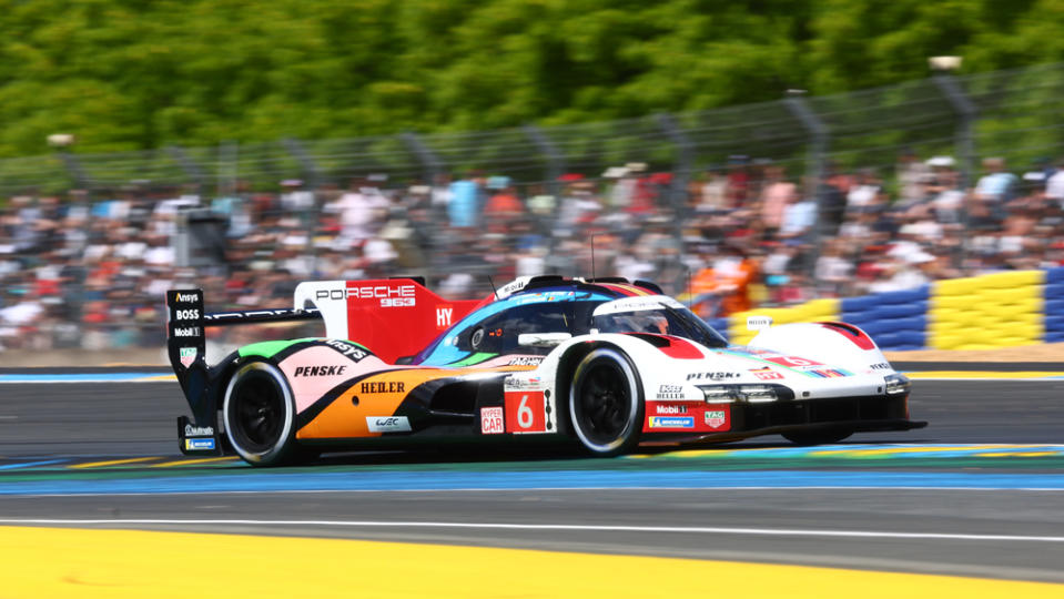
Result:
<instances>
[{"instance_id":1,"label":"black rear wing together with red-and-white PORSCHE 963 tail fin","mask_svg":"<svg viewBox=\"0 0 1064 599\"><path fill-rule=\"evenodd\" d=\"M166 292L166 353L192 408L192 419L178 418L183 453L223 451L217 410L229 365L207 365L206 327L322 319L327 337L356 341L395 363L419 352L480 303L444 300L417 278L305 282L296 286L293 300L291 308L207 314L203 290Z\"/></svg>"}]
</instances>

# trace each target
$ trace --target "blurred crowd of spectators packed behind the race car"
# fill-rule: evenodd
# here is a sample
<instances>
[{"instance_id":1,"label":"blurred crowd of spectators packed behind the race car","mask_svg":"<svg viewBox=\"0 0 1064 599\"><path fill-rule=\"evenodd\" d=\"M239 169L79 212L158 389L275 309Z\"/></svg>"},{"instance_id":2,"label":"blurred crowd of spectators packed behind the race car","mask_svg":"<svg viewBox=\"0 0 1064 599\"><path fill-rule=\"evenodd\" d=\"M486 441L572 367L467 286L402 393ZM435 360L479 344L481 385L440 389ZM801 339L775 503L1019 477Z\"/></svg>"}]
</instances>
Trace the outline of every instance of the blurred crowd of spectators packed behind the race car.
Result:
<instances>
[{"instance_id":1,"label":"blurred crowd of spectators packed behind the race car","mask_svg":"<svg viewBox=\"0 0 1064 599\"><path fill-rule=\"evenodd\" d=\"M209 309L287 307L300 281L414 274L483 297L517 276L653 280L706 318L813 297L1064 264L1064 163L986 159L970 185L950 156L904 153L890 172L829 165L819 181L732 156L690 177L630 163L546 184L463 173L417 185L130 185L0 203L0 347L161 346L164 292ZM679 205L678 205L679 204ZM185 211L209 211L224 255L181 265Z\"/></svg>"}]
</instances>

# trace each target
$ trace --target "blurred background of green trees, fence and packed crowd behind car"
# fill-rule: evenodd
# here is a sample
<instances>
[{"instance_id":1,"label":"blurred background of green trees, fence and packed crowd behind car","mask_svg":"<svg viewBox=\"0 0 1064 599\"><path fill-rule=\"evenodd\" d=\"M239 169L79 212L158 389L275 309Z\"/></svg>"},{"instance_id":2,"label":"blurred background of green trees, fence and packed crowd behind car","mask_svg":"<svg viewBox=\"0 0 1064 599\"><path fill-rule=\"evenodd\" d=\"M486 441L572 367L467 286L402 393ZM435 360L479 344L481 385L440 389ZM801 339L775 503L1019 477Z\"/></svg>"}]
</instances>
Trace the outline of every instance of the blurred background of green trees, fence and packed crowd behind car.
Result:
<instances>
[{"instance_id":1,"label":"blurred background of green trees, fence and packed crowd behind car","mask_svg":"<svg viewBox=\"0 0 1064 599\"><path fill-rule=\"evenodd\" d=\"M0 1L0 364L161 347L175 286L594 272L726 329L1062 265L1062 2L645 4Z\"/></svg>"}]
</instances>

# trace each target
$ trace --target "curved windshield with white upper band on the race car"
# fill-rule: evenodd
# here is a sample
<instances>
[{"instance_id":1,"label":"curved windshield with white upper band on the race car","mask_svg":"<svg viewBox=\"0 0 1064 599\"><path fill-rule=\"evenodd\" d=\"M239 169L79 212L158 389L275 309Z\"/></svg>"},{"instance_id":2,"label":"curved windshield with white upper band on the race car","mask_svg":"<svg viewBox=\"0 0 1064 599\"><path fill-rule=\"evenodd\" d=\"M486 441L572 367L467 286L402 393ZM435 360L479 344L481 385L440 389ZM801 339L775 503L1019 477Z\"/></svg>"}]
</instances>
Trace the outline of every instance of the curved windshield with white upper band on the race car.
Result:
<instances>
[{"instance_id":1,"label":"curved windshield with white upper band on the race car","mask_svg":"<svg viewBox=\"0 0 1064 599\"><path fill-rule=\"evenodd\" d=\"M625 297L595 308L591 328L599 333L652 333L672 335L700 343L706 347L726 347L727 339L713 327L667 297Z\"/></svg>"}]
</instances>

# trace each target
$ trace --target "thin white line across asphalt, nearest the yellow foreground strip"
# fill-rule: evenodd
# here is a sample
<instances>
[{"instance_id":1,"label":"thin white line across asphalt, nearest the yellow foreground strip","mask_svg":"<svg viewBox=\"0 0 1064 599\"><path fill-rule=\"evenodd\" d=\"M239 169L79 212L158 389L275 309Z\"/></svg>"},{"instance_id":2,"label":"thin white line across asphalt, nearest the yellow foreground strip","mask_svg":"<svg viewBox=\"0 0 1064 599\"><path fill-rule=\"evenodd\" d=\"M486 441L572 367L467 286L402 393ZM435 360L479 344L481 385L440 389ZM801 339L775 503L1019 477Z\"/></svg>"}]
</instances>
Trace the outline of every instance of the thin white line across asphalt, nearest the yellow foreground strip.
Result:
<instances>
[{"instance_id":1,"label":"thin white line across asphalt, nearest the yellow foreground strip","mask_svg":"<svg viewBox=\"0 0 1064 599\"><path fill-rule=\"evenodd\" d=\"M479 530L578 530L585 532L688 532L703 535L740 535L760 537L829 537L859 539L924 539L951 541L1021 541L1064 542L1064 537L1038 537L1031 535L973 535L952 532L891 532L883 530L824 530L811 528L732 528L702 526L625 526L625 525L561 525L561 524L509 524L509 522L433 522L433 521L379 521L379 520L233 520L233 519L38 519L0 518L0 525L172 525L172 526L325 526L344 528L457 528Z\"/></svg>"}]
</instances>

